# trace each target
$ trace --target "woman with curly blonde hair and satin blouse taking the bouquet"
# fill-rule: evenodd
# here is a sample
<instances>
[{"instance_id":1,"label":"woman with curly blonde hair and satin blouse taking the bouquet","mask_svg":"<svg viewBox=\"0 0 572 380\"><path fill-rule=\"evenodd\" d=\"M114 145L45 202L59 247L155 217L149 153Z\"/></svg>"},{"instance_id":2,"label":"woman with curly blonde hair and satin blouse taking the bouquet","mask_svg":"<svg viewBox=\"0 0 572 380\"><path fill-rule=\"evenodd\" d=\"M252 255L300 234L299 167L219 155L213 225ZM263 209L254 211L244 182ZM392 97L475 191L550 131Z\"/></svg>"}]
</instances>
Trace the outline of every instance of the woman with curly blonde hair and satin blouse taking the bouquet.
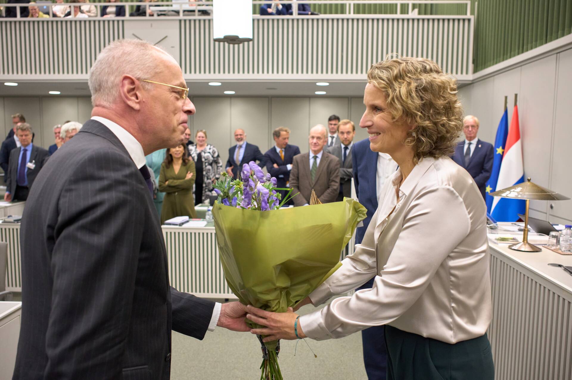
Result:
<instances>
[{"instance_id":1,"label":"woman with curly blonde hair and satin blouse taking the bouquet","mask_svg":"<svg viewBox=\"0 0 572 380\"><path fill-rule=\"evenodd\" d=\"M355 254L300 305L374 285L303 316L248 306L268 326L252 333L322 340L384 325L388 379L492 380L486 209L449 157L463 125L455 80L425 58L388 59L368 71L364 104L370 148L399 169Z\"/></svg>"}]
</instances>

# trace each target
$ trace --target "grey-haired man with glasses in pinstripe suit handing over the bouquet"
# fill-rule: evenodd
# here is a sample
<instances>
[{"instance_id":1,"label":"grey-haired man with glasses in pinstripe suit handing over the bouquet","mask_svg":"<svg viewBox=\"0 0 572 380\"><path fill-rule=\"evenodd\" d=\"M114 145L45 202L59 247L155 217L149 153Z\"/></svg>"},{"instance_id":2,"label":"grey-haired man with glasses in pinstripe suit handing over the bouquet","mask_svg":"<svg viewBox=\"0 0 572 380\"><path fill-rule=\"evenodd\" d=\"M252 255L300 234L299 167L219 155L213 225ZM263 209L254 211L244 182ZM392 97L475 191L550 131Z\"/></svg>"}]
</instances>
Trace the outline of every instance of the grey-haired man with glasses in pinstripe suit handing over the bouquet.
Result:
<instances>
[{"instance_id":1,"label":"grey-haired man with glasses in pinstripe suit handing over the bouquet","mask_svg":"<svg viewBox=\"0 0 572 380\"><path fill-rule=\"evenodd\" d=\"M195 112L159 47L110 43L93 64L92 119L51 157L21 226L14 379L168 379L171 330L248 331L238 302L169 286L145 155L184 140Z\"/></svg>"}]
</instances>

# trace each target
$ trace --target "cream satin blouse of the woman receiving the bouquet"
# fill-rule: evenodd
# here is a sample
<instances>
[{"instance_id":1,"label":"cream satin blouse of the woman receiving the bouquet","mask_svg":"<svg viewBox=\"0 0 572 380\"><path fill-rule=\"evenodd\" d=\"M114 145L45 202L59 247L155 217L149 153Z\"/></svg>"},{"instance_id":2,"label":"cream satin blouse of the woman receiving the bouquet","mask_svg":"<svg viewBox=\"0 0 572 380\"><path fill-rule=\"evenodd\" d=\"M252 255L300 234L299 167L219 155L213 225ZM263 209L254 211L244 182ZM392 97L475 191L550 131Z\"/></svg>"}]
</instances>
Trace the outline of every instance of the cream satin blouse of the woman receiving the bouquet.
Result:
<instances>
[{"instance_id":1,"label":"cream satin blouse of the woman receiving the bouquet","mask_svg":"<svg viewBox=\"0 0 572 380\"><path fill-rule=\"evenodd\" d=\"M308 337L341 338L389 324L456 343L487 330L486 206L474 180L448 157L426 157L399 188L401 180L398 169L384 185L362 244L310 298L321 304L375 275L374 286L301 316Z\"/></svg>"}]
</instances>

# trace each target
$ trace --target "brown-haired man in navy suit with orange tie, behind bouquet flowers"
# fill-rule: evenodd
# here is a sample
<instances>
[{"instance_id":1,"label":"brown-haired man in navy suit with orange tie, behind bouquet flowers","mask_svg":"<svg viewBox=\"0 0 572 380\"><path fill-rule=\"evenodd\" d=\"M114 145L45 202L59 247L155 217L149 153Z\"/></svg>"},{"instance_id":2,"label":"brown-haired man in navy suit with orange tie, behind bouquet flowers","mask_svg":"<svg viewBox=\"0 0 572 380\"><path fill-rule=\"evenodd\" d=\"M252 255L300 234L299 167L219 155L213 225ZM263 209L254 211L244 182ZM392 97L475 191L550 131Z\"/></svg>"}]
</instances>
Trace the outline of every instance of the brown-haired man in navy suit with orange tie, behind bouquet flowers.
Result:
<instances>
[{"instance_id":1,"label":"brown-haired man in navy suit with orange tie, behind bouquet flowers","mask_svg":"<svg viewBox=\"0 0 572 380\"><path fill-rule=\"evenodd\" d=\"M276 128L274 132L272 132L272 137L274 137L276 145L264 153L266 168L272 177L276 177L277 187L288 187L292 161L294 160L294 156L300 154L300 148L296 147L296 145L288 144L290 130L284 126ZM280 190L279 192L282 195L282 199L284 199L286 191ZM294 203L292 200L289 200L285 204Z\"/></svg>"}]
</instances>

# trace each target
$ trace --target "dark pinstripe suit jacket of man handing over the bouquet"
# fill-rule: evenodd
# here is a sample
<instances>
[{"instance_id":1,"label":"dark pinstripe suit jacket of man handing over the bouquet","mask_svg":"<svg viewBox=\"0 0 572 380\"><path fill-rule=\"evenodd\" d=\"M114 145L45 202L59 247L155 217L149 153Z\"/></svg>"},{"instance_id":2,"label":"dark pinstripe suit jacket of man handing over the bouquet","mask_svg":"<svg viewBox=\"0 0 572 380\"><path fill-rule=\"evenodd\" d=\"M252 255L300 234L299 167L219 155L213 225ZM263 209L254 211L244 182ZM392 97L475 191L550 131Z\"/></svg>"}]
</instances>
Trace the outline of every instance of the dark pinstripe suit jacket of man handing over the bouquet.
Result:
<instances>
[{"instance_id":1,"label":"dark pinstripe suit jacket of man handing over the bouquet","mask_svg":"<svg viewBox=\"0 0 572 380\"><path fill-rule=\"evenodd\" d=\"M58 150L22 218L14 379L168 379L171 330L202 339L214 303L169 286L148 188L106 126Z\"/></svg>"}]
</instances>

